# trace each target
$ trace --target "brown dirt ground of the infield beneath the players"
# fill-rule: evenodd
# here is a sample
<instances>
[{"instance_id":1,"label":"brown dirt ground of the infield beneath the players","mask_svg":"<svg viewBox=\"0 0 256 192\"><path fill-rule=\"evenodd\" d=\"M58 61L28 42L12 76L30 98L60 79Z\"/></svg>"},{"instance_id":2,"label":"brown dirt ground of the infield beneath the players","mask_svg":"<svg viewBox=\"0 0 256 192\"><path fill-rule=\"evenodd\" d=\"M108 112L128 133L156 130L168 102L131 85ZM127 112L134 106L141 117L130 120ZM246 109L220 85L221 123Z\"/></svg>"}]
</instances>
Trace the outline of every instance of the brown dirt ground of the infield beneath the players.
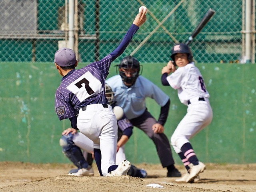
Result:
<instances>
[{"instance_id":1,"label":"brown dirt ground of the infield beneath the players","mask_svg":"<svg viewBox=\"0 0 256 192\"><path fill-rule=\"evenodd\" d=\"M207 170L193 184L176 183L166 177L161 165L136 164L148 172L145 179L130 176L100 177L93 164L94 176L69 176L71 164L30 164L0 162L1 192L255 192L256 164L206 164ZM182 166L177 166L184 173ZM146 185L156 183L163 188Z\"/></svg>"}]
</instances>

